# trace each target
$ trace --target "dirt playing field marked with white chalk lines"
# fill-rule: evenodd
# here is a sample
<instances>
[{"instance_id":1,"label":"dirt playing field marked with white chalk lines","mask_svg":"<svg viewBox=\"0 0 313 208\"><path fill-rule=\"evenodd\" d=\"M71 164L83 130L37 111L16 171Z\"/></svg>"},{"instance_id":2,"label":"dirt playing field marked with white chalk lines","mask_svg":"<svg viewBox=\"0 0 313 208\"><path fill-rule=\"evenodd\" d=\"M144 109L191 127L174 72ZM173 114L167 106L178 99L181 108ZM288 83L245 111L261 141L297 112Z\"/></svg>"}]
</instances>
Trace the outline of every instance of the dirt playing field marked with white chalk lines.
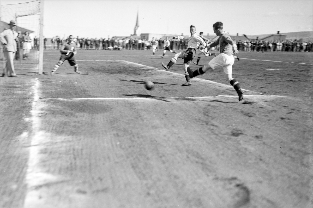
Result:
<instances>
[{"instance_id":1,"label":"dirt playing field marked with white chalk lines","mask_svg":"<svg viewBox=\"0 0 313 208\"><path fill-rule=\"evenodd\" d=\"M44 52L45 72L59 55ZM182 86L183 61L165 71L174 54L160 55L79 50L82 75L15 62L0 77L0 207L312 208L313 53L240 53L240 102L223 69Z\"/></svg>"}]
</instances>

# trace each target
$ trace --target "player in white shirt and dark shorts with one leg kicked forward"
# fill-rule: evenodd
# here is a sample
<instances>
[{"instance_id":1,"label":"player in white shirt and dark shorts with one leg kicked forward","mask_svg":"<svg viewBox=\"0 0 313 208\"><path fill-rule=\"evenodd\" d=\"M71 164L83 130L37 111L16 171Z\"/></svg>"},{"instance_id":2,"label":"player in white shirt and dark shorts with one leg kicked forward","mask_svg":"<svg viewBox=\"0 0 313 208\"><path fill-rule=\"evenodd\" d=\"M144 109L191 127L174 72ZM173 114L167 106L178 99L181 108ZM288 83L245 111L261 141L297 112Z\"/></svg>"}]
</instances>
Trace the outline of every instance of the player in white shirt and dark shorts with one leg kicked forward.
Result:
<instances>
[{"instance_id":1,"label":"player in white shirt and dark shorts with one leg kicked forward","mask_svg":"<svg viewBox=\"0 0 313 208\"><path fill-rule=\"evenodd\" d=\"M196 35L196 27L194 25L190 25L190 35L183 35L183 36L174 36L173 39L178 39L178 40L188 40L188 47L186 51L177 53L174 55L174 58L168 62L167 65L162 63L162 66L164 69L167 71L171 68L172 65L174 65L177 61L177 58L184 59L184 71L185 71L185 78L186 82L183 83L183 86L189 86L191 85L191 80L189 77L189 74L187 72L187 69L189 68L189 65L192 61L192 59L196 55L196 49L199 47L200 44L204 46L204 52L207 53L207 44L204 42L200 36ZM189 68L190 70L190 68ZM191 71L191 70L190 70Z\"/></svg>"}]
</instances>

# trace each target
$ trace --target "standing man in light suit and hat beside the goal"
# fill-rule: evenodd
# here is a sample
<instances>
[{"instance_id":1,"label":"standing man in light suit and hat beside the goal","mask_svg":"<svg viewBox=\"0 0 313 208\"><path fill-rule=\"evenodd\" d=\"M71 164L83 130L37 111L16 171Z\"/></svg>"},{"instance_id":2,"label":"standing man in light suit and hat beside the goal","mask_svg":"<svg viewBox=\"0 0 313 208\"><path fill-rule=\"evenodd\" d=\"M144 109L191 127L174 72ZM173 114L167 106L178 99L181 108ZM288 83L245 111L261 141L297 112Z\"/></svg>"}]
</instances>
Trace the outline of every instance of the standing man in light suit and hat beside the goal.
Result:
<instances>
[{"instance_id":1,"label":"standing man in light suit and hat beside the goal","mask_svg":"<svg viewBox=\"0 0 313 208\"><path fill-rule=\"evenodd\" d=\"M18 41L18 33L14 31L16 27L14 20L11 20L8 25L10 26L10 29L6 29L2 33L0 33L0 41L2 45L4 45L3 52L6 57L5 68L7 69L7 71L5 71L5 68L3 69L2 76L5 76L7 72L9 77L16 77L13 59L17 51L16 42Z\"/></svg>"}]
</instances>

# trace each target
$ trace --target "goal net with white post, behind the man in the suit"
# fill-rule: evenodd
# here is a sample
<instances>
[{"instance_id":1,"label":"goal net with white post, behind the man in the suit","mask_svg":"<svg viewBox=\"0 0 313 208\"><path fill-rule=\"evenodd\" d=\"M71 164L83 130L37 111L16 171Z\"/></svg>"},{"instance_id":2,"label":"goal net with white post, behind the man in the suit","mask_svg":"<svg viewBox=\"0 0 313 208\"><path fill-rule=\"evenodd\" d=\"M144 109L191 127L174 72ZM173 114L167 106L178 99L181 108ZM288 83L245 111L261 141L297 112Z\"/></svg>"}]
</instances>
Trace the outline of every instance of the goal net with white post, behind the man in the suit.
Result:
<instances>
[{"instance_id":1,"label":"goal net with white post, behind the man in the suit","mask_svg":"<svg viewBox=\"0 0 313 208\"><path fill-rule=\"evenodd\" d=\"M8 23L14 20L15 31L18 32L18 51L14 61L23 69L33 69L33 72L42 74L43 66L43 5L42 0L18 4L1 5L1 31L9 29ZM1 47L2 49L2 47ZM1 58L4 62L3 51ZM3 65L5 67L5 65Z\"/></svg>"}]
</instances>

